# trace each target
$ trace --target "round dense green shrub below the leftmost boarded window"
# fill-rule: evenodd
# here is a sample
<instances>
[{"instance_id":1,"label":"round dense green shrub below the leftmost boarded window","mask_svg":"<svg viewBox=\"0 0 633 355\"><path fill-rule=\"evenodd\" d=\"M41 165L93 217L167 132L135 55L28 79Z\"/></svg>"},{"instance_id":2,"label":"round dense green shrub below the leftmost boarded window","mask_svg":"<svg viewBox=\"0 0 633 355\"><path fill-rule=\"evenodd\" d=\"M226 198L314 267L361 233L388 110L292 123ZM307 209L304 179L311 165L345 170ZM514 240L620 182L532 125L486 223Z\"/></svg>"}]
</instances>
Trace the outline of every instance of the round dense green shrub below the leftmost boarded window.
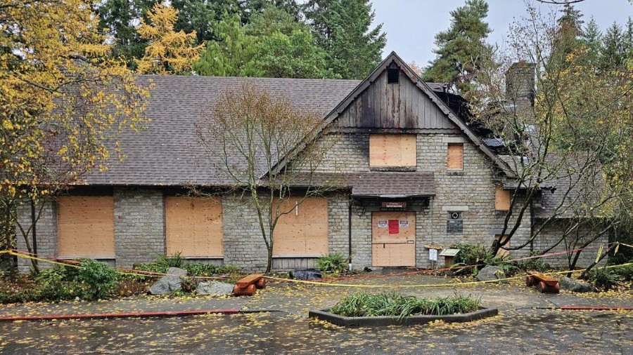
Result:
<instances>
[{"instance_id":1,"label":"round dense green shrub below the leftmost boarded window","mask_svg":"<svg viewBox=\"0 0 633 355\"><path fill-rule=\"evenodd\" d=\"M96 260L82 260L81 266L76 280L87 286L87 293L84 295L87 300L101 300L114 293L119 274L113 267Z\"/></svg>"}]
</instances>

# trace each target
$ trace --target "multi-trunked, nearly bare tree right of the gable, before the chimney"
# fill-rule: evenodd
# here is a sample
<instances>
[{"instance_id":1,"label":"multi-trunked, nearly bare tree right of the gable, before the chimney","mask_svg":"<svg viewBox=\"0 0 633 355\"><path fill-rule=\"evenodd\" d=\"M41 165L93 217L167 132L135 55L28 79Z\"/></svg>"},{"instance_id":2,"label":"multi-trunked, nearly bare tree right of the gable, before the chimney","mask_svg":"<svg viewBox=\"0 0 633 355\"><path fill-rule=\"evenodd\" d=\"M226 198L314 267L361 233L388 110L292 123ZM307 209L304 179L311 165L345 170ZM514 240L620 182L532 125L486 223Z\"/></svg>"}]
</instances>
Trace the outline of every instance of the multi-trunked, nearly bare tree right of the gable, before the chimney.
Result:
<instances>
[{"instance_id":1,"label":"multi-trunked, nearly bare tree right of the gable, before the chimney","mask_svg":"<svg viewBox=\"0 0 633 355\"><path fill-rule=\"evenodd\" d=\"M492 253L531 246L554 225L560 239L544 251L561 243L584 248L620 223L618 201L630 194L632 159L622 148L633 140L633 76L615 67L598 72L576 28L528 6L527 17L511 26L508 49L478 73L473 107L504 140L515 175L503 182L513 189L501 233L507 237ZM539 217L530 238L510 247L528 213ZM579 253L569 253L570 268Z\"/></svg>"}]
</instances>

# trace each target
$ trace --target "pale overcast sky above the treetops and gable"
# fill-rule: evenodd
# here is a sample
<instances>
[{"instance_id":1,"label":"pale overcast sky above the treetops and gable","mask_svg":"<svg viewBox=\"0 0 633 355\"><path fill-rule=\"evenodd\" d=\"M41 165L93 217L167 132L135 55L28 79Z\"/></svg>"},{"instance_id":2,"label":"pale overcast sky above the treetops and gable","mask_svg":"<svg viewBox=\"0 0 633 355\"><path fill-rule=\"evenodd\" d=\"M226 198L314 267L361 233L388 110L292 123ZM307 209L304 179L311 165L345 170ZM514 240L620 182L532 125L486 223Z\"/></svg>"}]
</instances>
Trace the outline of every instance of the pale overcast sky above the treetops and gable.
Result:
<instances>
[{"instance_id":1,"label":"pale overcast sky above the treetops and gable","mask_svg":"<svg viewBox=\"0 0 633 355\"><path fill-rule=\"evenodd\" d=\"M549 12L551 6L532 1L542 12ZM465 0L373 0L376 11L374 24L383 23L387 32L385 55L395 51L405 62L414 60L424 67L435 58L433 49L435 34L449 28L450 12L463 6ZM490 43L502 44L513 18L525 13L523 0L487 0L490 10L487 22L492 29L488 37ZM554 6L561 8L562 6ZM601 29L606 29L614 21L622 26L629 16L633 16L633 5L627 0L584 0L575 4L583 14L583 20L594 17Z\"/></svg>"}]
</instances>

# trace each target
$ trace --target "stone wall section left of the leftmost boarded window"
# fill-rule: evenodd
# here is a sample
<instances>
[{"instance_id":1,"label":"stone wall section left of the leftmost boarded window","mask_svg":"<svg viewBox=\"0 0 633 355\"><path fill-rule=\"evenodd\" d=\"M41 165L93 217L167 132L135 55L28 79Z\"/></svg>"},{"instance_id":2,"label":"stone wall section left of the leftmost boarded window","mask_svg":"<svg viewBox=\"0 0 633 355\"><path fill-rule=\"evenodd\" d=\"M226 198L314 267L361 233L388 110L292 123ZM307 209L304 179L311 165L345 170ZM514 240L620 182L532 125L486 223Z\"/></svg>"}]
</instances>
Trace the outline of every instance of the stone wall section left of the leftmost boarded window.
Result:
<instances>
[{"instance_id":1,"label":"stone wall section left of the leftmost boarded window","mask_svg":"<svg viewBox=\"0 0 633 355\"><path fill-rule=\"evenodd\" d=\"M35 206L35 213L39 211L42 205ZM28 229L31 222L31 204L30 201L22 201L18 205L18 220L23 228ZM40 257L56 257L57 256L57 203L56 201L46 201L39 215L39 220L35 224L35 233L37 237L37 255ZM32 234L28 234L31 247L33 246ZM27 251L26 243L22 233L18 230L15 236L19 250ZM31 260L18 257L18 270L20 272L29 272L31 268ZM53 264L47 262L39 262L40 269L48 269Z\"/></svg>"}]
</instances>

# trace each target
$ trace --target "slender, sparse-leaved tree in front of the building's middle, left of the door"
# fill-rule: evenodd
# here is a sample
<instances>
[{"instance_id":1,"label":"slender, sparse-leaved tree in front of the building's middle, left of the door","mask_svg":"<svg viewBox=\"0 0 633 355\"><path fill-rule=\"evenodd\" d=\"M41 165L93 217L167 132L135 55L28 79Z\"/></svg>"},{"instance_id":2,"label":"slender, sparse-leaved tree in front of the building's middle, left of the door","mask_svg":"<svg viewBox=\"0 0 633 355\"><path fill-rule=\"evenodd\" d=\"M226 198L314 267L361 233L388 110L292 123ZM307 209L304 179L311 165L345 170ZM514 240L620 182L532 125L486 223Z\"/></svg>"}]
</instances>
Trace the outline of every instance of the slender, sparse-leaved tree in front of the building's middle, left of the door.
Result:
<instances>
[{"instance_id":1,"label":"slender, sparse-leaved tree in front of the building's middle, left of the door","mask_svg":"<svg viewBox=\"0 0 633 355\"><path fill-rule=\"evenodd\" d=\"M198 138L230 192L257 212L268 253L266 272L280 217L307 198L340 187L336 173L317 173L338 136L322 130L323 122L319 114L245 80L222 93L198 124ZM288 204L290 196L299 197L296 204Z\"/></svg>"}]
</instances>

